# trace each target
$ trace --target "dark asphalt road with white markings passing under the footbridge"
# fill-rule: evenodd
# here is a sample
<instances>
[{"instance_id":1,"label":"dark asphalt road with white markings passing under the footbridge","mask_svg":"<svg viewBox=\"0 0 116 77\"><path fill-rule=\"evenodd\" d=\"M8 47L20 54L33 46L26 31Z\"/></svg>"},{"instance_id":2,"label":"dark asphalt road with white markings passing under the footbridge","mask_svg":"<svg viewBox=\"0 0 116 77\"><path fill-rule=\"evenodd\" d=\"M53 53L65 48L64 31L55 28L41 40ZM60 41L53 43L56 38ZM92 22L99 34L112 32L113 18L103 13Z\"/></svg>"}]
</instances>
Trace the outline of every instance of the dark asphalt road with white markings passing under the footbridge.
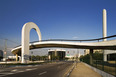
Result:
<instances>
[{"instance_id":1,"label":"dark asphalt road with white markings passing under the footbridge","mask_svg":"<svg viewBox=\"0 0 116 77\"><path fill-rule=\"evenodd\" d=\"M64 77L73 62L57 62L52 64L12 67L0 71L0 77Z\"/></svg>"}]
</instances>

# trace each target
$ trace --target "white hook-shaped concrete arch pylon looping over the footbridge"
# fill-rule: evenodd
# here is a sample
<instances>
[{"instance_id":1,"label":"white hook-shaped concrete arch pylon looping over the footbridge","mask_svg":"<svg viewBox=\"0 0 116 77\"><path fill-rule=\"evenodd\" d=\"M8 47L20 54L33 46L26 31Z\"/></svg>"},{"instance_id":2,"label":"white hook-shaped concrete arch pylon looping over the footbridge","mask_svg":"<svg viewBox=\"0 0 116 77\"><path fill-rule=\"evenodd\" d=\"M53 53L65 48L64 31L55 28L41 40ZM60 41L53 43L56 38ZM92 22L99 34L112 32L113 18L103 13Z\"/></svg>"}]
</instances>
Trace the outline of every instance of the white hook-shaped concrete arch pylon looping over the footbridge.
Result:
<instances>
[{"instance_id":1,"label":"white hook-shaped concrete arch pylon looping over the footbridge","mask_svg":"<svg viewBox=\"0 0 116 77\"><path fill-rule=\"evenodd\" d=\"M22 28L22 59L21 62L25 63L29 60L29 37L30 37L30 30L35 29L38 34L39 41L41 41L41 32L38 26L33 22L28 22L24 24Z\"/></svg>"}]
</instances>

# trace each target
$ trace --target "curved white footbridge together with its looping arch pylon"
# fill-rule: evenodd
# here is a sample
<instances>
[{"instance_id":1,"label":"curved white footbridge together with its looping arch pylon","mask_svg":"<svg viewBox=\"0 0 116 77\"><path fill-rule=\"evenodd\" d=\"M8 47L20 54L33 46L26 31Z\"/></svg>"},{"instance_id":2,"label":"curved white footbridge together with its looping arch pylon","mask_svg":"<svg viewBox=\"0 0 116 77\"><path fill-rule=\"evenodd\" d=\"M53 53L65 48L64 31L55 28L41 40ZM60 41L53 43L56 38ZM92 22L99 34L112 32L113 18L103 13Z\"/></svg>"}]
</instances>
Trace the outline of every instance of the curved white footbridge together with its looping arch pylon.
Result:
<instances>
[{"instance_id":1,"label":"curved white footbridge together with its looping arch pylon","mask_svg":"<svg viewBox=\"0 0 116 77\"><path fill-rule=\"evenodd\" d=\"M29 33L31 29L35 29L39 36L39 41L29 44ZM112 36L110 36L112 37ZM106 38L110 38L106 37ZM114 36L113 36L114 37ZM92 39L92 40L101 40ZM46 48L46 47L62 47L62 48L81 48L81 49L110 49L116 50L116 40L97 41L97 42L82 42L92 40L41 40L41 32L33 22L26 23L22 28L22 45L12 49L13 54L21 54L22 63L25 63L25 55L29 55L29 49Z\"/></svg>"}]
</instances>

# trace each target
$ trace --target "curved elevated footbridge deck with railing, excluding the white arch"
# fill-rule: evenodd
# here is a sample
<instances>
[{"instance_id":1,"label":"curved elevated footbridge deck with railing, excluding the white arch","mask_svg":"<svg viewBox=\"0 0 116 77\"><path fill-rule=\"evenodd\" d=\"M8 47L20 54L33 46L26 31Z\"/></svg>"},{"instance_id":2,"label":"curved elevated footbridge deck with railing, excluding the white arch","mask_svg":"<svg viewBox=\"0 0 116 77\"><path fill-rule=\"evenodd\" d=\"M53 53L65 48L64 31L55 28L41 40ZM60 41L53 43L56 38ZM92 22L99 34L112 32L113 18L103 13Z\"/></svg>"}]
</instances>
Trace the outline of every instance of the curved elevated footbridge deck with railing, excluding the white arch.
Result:
<instances>
[{"instance_id":1,"label":"curved elevated footbridge deck with railing, excluding the white arch","mask_svg":"<svg viewBox=\"0 0 116 77\"><path fill-rule=\"evenodd\" d=\"M106 38L116 37L116 35ZM106 38L90 39L90 40L64 40L64 39L51 39L31 42L29 48L47 48L47 47L61 47L61 48L80 48L80 49L110 49L116 50L116 40L100 41ZM86 42L97 41L97 42ZM13 54L21 53L22 46L17 46L12 49Z\"/></svg>"}]
</instances>

